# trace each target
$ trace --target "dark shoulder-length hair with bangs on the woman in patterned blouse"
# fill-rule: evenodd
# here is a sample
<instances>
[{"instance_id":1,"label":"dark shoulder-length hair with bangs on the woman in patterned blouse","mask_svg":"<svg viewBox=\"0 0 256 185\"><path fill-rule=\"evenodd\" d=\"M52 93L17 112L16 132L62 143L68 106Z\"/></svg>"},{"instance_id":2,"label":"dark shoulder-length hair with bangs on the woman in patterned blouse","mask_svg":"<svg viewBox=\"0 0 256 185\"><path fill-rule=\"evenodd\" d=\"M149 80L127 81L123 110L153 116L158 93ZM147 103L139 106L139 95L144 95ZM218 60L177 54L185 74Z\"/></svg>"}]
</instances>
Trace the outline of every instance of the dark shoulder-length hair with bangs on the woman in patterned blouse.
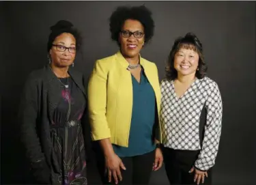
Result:
<instances>
[{"instance_id":1,"label":"dark shoulder-length hair with bangs on the woman in patterned blouse","mask_svg":"<svg viewBox=\"0 0 256 185\"><path fill-rule=\"evenodd\" d=\"M186 33L184 37L180 37L175 40L173 47L171 48L171 52L169 53L167 66L165 67L166 78L169 80L177 78L177 70L174 68L174 58L180 48L189 48L198 53L199 64L195 76L197 79L203 79L203 77L206 76L208 66L206 65L203 57L203 45L194 33Z\"/></svg>"}]
</instances>

